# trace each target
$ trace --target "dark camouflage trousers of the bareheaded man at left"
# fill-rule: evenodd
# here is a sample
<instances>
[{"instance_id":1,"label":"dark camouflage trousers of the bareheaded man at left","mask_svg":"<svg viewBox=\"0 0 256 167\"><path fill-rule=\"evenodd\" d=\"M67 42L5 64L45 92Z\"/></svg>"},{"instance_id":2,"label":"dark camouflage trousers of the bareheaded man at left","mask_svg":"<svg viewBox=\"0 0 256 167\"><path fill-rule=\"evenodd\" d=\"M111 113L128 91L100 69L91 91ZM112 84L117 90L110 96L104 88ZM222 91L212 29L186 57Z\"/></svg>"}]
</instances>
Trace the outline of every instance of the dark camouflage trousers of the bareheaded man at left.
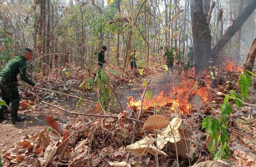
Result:
<instances>
[{"instance_id":1,"label":"dark camouflage trousers of the bareheaded man at left","mask_svg":"<svg viewBox=\"0 0 256 167\"><path fill-rule=\"evenodd\" d=\"M11 117L16 117L20 107L20 94L15 79L11 77L0 77L0 90L2 100L9 106L11 103ZM0 105L0 116L7 106Z\"/></svg>"}]
</instances>

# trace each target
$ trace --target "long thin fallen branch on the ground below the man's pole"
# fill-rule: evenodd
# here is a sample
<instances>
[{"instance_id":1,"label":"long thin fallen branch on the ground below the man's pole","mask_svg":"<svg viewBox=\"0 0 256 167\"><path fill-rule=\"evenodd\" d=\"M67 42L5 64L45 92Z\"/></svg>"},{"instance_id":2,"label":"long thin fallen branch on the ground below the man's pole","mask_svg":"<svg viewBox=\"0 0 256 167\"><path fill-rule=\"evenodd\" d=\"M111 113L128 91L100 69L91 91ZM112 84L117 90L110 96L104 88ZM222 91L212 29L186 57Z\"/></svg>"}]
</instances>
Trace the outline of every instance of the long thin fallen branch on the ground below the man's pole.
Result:
<instances>
[{"instance_id":1,"label":"long thin fallen branch on the ground below the man's pole","mask_svg":"<svg viewBox=\"0 0 256 167\"><path fill-rule=\"evenodd\" d=\"M49 103L46 103L45 101L43 100L40 100L40 102L42 102L43 104L46 104L48 106L52 106L54 108L57 108L61 111L64 111L66 113L69 113L69 114L74 114L74 115L84 115L84 116L91 116L91 117L103 117L103 118L117 118L118 119L118 115L117 114L113 114L113 115L98 115L98 114L87 114L87 113L76 113L76 112L72 112L72 111L68 111L68 110L65 110L61 107L58 107L58 106L55 106L55 105L52 105L52 104L49 104ZM137 120L137 119L134 119L134 118L126 118L126 119L129 119L129 120L132 120L132 121L136 121L136 122L140 122L141 124L144 124L145 122L143 121L140 121L140 120Z\"/></svg>"}]
</instances>

